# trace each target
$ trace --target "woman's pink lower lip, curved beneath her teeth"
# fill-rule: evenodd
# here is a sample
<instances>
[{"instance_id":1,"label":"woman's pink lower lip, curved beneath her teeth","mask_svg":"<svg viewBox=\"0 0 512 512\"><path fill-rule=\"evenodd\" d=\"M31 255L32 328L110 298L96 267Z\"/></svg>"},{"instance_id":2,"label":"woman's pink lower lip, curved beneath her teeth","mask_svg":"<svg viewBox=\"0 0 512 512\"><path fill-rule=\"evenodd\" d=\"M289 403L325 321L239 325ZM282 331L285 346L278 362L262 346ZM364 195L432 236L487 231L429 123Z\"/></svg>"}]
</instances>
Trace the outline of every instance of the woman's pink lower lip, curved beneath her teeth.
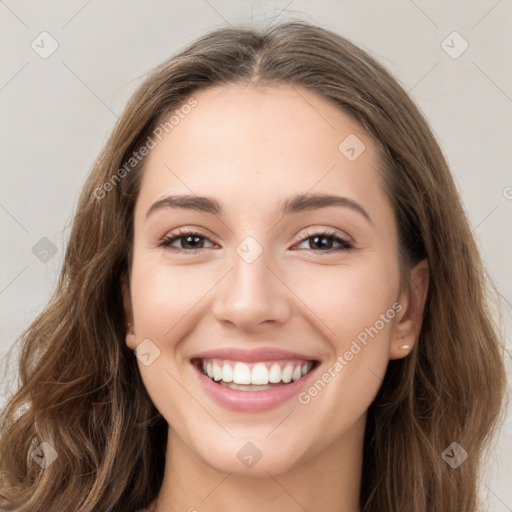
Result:
<instances>
[{"instance_id":1,"label":"woman's pink lower lip, curved beneath her teeth","mask_svg":"<svg viewBox=\"0 0 512 512\"><path fill-rule=\"evenodd\" d=\"M273 389L266 389L264 391L240 391L218 384L202 373L195 365L192 366L199 376L199 382L212 400L226 409L237 412L268 411L284 404L302 391L304 384L306 384L311 378L311 375L315 372L315 368L313 368L299 380Z\"/></svg>"}]
</instances>

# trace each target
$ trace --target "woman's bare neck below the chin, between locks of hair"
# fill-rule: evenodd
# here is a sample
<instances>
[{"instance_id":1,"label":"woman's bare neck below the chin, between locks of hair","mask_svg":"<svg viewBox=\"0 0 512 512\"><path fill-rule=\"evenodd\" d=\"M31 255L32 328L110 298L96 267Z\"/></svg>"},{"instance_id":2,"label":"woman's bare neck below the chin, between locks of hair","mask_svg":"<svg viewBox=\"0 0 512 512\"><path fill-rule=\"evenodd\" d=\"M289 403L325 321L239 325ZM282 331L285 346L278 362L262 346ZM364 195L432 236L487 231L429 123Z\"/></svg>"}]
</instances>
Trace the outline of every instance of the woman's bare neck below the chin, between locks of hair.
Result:
<instances>
[{"instance_id":1,"label":"woman's bare neck below the chin, between locks of hair","mask_svg":"<svg viewBox=\"0 0 512 512\"><path fill-rule=\"evenodd\" d=\"M313 457L280 474L217 471L169 429L156 512L360 512L365 418Z\"/></svg>"}]
</instances>

